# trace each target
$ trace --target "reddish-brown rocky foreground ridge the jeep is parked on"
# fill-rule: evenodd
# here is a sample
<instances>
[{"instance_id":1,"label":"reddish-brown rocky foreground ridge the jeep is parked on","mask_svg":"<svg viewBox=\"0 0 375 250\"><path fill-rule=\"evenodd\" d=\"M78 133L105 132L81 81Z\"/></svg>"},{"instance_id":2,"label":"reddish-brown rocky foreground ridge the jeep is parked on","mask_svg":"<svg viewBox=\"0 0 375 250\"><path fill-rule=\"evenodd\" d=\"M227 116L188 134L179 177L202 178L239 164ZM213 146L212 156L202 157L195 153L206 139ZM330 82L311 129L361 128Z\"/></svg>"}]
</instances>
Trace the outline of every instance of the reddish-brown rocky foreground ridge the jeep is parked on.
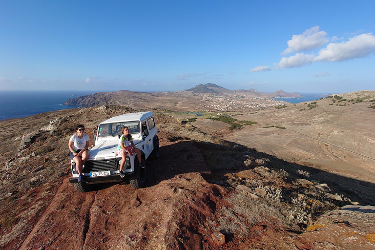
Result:
<instances>
[{"instance_id":1,"label":"reddish-brown rocky foreground ridge the jeep is parked on","mask_svg":"<svg viewBox=\"0 0 375 250\"><path fill-rule=\"evenodd\" d=\"M157 114L161 155L146 163L146 187L77 192L67 149L75 125L93 140L99 122L126 112L100 106L0 121L1 249L375 249L374 183L218 139L258 124L229 131L213 121L212 137Z\"/></svg>"}]
</instances>

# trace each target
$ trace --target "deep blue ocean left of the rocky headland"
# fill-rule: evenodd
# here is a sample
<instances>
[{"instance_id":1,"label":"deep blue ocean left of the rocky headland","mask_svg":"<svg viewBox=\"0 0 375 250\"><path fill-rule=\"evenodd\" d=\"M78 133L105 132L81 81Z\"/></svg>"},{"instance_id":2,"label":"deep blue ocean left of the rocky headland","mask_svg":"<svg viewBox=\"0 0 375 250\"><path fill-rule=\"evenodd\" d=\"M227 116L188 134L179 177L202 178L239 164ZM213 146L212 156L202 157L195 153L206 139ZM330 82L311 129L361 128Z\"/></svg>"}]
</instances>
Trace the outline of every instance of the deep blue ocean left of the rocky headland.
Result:
<instances>
[{"instance_id":1,"label":"deep blue ocean left of the rocky headland","mask_svg":"<svg viewBox=\"0 0 375 250\"><path fill-rule=\"evenodd\" d=\"M11 118L21 118L48 111L67 108L77 108L73 105L62 105L63 102L92 94L94 91L0 91L0 121ZM72 95L75 96L72 96Z\"/></svg>"}]
</instances>

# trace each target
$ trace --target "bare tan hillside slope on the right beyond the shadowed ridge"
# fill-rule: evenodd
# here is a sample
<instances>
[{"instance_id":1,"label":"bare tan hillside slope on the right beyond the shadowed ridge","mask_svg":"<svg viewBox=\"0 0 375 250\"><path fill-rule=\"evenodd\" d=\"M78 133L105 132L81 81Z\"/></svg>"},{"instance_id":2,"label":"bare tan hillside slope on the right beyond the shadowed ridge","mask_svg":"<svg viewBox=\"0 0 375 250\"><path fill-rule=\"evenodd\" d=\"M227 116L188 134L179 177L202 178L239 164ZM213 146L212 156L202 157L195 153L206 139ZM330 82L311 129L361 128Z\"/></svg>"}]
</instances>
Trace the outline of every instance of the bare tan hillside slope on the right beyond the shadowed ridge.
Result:
<instances>
[{"instance_id":1,"label":"bare tan hillside slope on the right beyond the shadowed ridge","mask_svg":"<svg viewBox=\"0 0 375 250\"><path fill-rule=\"evenodd\" d=\"M360 91L255 112L228 113L238 121L257 123L240 129L229 130L229 124L206 118L197 118L192 124L218 138L255 148L301 167L321 170L313 178L323 178L322 181L339 187L351 187L351 192L361 193L373 204L374 107L375 91ZM351 181L330 180L325 178L327 173L348 177Z\"/></svg>"}]
</instances>

